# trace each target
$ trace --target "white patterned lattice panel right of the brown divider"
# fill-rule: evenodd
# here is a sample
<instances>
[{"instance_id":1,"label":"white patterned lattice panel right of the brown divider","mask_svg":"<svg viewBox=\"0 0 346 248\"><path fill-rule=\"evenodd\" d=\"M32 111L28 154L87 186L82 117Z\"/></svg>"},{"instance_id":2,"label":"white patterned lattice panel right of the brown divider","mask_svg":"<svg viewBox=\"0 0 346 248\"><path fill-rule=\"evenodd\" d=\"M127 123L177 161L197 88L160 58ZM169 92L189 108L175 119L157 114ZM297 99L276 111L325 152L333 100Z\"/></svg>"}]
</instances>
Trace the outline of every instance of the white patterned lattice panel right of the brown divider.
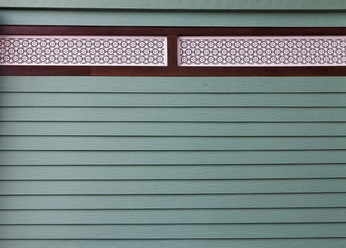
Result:
<instances>
[{"instance_id":1,"label":"white patterned lattice panel right of the brown divider","mask_svg":"<svg viewBox=\"0 0 346 248\"><path fill-rule=\"evenodd\" d=\"M180 37L180 66L342 66L346 37Z\"/></svg>"}]
</instances>

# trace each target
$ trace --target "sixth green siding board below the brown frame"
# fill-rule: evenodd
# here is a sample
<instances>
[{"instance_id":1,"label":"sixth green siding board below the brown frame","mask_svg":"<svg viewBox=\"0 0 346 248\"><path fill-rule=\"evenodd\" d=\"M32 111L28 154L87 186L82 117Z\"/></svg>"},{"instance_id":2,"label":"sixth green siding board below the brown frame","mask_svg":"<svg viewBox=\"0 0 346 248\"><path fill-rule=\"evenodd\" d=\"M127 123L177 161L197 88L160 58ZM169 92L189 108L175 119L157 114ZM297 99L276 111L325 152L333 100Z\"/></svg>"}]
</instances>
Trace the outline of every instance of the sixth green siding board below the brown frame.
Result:
<instances>
[{"instance_id":1,"label":"sixth green siding board below the brown frame","mask_svg":"<svg viewBox=\"0 0 346 248\"><path fill-rule=\"evenodd\" d=\"M0 151L0 165L345 164L345 150Z\"/></svg>"}]
</instances>

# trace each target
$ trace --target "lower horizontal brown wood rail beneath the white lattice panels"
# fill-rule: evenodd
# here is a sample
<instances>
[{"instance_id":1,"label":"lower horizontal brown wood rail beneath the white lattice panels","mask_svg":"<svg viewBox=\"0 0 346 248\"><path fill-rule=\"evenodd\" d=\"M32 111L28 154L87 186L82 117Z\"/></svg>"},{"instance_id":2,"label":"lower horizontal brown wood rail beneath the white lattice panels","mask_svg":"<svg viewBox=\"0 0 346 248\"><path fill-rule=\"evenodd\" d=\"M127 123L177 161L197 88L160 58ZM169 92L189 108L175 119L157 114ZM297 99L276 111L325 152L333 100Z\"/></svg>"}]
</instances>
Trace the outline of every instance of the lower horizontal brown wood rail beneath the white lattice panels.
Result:
<instances>
[{"instance_id":1,"label":"lower horizontal brown wood rail beneath the white lattice panels","mask_svg":"<svg viewBox=\"0 0 346 248\"><path fill-rule=\"evenodd\" d=\"M346 67L81 67L1 66L2 76L185 76L321 77L346 76Z\"/></svg>"}]
</instances>

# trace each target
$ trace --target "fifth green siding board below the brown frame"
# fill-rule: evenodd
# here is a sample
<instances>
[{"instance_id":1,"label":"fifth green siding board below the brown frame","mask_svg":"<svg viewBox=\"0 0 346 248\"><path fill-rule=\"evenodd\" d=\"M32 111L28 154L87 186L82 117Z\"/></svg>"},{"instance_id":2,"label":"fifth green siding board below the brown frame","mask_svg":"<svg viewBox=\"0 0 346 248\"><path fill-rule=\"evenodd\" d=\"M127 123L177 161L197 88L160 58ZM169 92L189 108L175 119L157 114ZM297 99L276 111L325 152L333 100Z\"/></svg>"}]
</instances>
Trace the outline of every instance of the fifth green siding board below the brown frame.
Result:
<instances>
[{"instance_id":1,"label":"fifth green siding board below the brown frame","mask_svg":"<svg viewBox=\"0 0 346 248\"><path fill-rule=\"evenodd\" d=\"M0 136L0 150L346 150L346 137Z\"/></svg>"}]
</instances>

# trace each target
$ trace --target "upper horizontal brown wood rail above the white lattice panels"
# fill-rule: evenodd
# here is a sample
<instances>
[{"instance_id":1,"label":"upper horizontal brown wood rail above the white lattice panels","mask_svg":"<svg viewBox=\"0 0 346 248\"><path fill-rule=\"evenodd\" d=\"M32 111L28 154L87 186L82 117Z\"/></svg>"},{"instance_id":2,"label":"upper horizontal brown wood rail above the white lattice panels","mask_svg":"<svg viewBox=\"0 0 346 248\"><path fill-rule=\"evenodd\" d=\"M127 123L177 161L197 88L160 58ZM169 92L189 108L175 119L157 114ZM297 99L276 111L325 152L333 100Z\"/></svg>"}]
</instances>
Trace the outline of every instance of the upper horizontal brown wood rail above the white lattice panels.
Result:
<instances>
[{"instance_id":1,"label":"upper horizontal brown wood rail above the white lattice panels","mask_svg":"<svg viewBox=\"0 0 346 248\"><path fill-rule=\"evenodd\" d=\"M346 35L346 27L0 26L1 35Z\"/></svg>"}]
</instances>

